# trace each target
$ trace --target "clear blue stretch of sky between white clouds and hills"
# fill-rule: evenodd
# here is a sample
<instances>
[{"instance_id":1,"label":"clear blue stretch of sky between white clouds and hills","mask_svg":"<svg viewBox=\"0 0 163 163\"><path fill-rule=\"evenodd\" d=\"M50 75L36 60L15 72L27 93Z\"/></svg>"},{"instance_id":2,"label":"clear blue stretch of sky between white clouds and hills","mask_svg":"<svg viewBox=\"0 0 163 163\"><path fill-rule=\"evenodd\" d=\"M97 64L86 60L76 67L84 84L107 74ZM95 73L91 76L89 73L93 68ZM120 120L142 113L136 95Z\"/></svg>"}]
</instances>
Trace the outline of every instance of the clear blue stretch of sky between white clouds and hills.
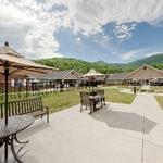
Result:
<instances>
[{"instance_id":1,"label":"clear blue stretch of sky between white clouds and hills","mask_svg":"<svg viewBox=\"0 0 163 163\"><path fill-rule=\"evenodd\" d=\"M127 24L126 24L127 25ZM105 43L103 36L74 36L71 29L62 28L55 37L60 43L59 52L64 57L87 61L102 60L105 62L130 62L152 54L163 52L163 27L148 23L136 25L131 36L121 40L113 33L114 23L103 26L104 36L110 38Z\"/></svg>"}]
</instances>

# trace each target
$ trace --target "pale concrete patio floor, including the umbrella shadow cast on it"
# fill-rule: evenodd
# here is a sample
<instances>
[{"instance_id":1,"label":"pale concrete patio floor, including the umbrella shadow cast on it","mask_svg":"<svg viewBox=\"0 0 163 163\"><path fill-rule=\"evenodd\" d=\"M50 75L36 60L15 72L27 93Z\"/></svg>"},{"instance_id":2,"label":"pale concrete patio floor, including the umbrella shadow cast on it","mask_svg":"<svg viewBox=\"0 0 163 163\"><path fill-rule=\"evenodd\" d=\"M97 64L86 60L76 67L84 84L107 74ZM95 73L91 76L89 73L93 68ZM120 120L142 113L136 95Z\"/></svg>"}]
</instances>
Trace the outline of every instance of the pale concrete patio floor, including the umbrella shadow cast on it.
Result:
<instances>
[{"instance_id":1,"label":"pale concrete patio floor, including the umbrella shadow cast on it","mask_svg":"<svg viewBox=\"0 0 163 163\"><path fill-rule=\"evenodd\" d=\"M146 100L146 102L145 102ZM18 135L25 163L162 163L163 111L152 95L131 105L108 103L89 115L79 105L36 120ZM2 149L0 155L3 156ZM12 159L11 159L12 162Z\"/></svg>"}]
</instances>

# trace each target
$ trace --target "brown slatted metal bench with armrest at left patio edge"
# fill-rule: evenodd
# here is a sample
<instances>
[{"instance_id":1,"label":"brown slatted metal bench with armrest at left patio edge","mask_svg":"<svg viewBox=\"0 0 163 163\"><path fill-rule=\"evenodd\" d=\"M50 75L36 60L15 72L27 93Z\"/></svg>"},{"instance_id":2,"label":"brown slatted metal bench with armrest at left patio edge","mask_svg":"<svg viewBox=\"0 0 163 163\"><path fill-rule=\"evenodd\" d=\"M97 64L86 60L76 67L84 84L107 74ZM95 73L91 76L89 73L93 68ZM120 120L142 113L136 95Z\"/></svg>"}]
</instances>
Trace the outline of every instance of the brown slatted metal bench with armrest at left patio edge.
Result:
<instances>
[{"instance_id":1,"label":"brown slatted metal bench with armrest at left patio edge","mask_svg":"<svg viewBox=\"0 0 163 163\"><path fill-rule=\"evenodd\" d=\"M47 114L47 123L49 123L49 108L42 105L42 98L32 98L20 101L11 101L8 104L9 116L32 114L35 118ZM4 103L0 103L0 117L4 117Z\"/></svg>"}]
</instances>

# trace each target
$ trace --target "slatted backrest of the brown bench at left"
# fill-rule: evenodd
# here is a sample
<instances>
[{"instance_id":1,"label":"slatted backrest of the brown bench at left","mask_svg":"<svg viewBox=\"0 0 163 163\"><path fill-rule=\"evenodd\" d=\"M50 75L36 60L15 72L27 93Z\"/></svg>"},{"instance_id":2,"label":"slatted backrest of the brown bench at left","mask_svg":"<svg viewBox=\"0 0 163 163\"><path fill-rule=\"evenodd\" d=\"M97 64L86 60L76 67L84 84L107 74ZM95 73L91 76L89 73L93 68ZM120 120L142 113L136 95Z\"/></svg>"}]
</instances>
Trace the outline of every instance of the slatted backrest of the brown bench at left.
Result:
<instances>
[{"instance_id":1,"label":"slatted backrest of the brown bench at left","mask_svg":"<svg viewBox=\"0 0 163 163\"><path fill-rule=\"evenodd\" d=\"M0 103L0 117L4 117L4 103ZM8 114L12 115L22 115L32 113L38 110L42 110L42 99L41 97L25 99L20 101L11 101L8 104Z\"/></svg>"}]
</instances>

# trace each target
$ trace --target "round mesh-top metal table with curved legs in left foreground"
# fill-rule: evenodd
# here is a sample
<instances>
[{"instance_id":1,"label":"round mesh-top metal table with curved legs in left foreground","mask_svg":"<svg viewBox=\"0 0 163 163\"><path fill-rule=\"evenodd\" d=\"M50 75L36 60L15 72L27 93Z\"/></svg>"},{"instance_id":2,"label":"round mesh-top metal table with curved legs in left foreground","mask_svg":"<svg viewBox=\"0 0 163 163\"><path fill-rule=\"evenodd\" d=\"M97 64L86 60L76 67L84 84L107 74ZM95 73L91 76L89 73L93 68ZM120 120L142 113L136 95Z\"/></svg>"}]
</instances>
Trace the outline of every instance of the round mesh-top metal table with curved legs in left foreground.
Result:
<instances>
[{"instance_id":1,"label":"round mesh-top metal table with curved legs in left foreground","mask_svg":"<svg viewBox=\"0 0 163 163\"><path fill-rule=\"evenodd\" d=\"M8 125L5 125L4 118L0 120L0 147L3 146L5 142L7 146L11 147L11 152L14 156L14 159L22 163L18 156L18 152L15 152L14 149L14 140L18 143L27 143L28 141L21 142L17 140L17 134L27 127L29 127L34 123L34 117L32 115L15 115L15 116L9 116Z\"/></svg>"}]
</instances>

